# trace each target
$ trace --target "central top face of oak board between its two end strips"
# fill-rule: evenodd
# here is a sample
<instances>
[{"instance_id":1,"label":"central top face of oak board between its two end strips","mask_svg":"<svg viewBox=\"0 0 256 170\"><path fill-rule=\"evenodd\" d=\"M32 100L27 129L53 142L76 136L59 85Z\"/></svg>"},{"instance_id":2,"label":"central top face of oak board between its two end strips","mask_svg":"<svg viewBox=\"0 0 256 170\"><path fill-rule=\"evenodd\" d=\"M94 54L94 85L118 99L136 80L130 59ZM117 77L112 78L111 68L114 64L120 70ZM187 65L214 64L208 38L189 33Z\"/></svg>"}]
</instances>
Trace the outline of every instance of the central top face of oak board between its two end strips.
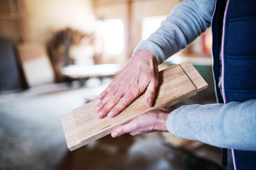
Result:
<instances>
[{"instance_id":1,"label":"central top face of oak board between its two end strips","mask_svg":"<svg viewBox=\"0 0 256 170\"><path fill-rule=\"evenodd\" d=\"M96 113L93 109L99 103L97 100L73 110L71 113L73 114L79 139L82 141L87 138L88 135L105 127L111 126L116 122L127 121L134 116L136 117L141 113L153 110L155 107L159 107L166 102L172 101L173 99L196 89L179 65L161 71L159 80L160 85L157 89L158 95L155 99L157 105L154 105L152 108L146 107L143 94L135 99L134 102L120 112L114 119L109 117L103 119L96 118ZM177 88L175 87L180 87L180 90L177 91Z\"/></svg>"}]
</instances>

